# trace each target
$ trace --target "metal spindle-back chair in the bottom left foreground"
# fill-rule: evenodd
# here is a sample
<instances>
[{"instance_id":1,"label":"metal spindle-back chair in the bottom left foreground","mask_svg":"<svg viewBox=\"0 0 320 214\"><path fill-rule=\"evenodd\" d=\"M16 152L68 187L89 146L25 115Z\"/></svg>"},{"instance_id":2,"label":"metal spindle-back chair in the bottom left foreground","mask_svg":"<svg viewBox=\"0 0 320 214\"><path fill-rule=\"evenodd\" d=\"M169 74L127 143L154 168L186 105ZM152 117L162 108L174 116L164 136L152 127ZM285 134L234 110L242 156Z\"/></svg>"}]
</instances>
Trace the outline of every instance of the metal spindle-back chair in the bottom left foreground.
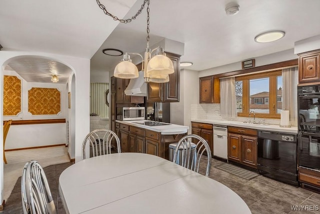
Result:
<instances>
[{"instance_id":1,"label":"metal spindle-back chair in the bottom left foreground","mask_svg":"<svg viewBox=\"0 0 320 214\"><path fill-rule=\"evenodd\" d=\"M22 170L21 199L25 214L56 213L45 173L36 160L27 162Z\"/></svg>"}]
</instances>

